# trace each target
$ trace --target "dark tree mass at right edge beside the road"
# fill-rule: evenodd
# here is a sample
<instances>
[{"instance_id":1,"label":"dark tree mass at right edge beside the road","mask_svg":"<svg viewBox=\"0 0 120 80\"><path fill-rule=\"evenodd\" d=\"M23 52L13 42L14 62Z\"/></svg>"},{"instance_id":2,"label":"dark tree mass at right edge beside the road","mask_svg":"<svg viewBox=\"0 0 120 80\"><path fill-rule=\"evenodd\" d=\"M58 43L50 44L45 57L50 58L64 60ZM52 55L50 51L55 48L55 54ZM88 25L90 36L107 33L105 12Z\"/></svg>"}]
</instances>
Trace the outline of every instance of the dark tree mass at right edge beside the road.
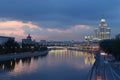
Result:
<instances>
[{"instance_id":1,"label":"dark tree mass at right edge beside the road","mask_svg":"<svg viewBox=\"0 0 120 80\"><path fill-rule=\"evenodd\" d=\"M120 60L120 39L103 40L99 45L100 49Z\"/></svg>"}]
</instances>

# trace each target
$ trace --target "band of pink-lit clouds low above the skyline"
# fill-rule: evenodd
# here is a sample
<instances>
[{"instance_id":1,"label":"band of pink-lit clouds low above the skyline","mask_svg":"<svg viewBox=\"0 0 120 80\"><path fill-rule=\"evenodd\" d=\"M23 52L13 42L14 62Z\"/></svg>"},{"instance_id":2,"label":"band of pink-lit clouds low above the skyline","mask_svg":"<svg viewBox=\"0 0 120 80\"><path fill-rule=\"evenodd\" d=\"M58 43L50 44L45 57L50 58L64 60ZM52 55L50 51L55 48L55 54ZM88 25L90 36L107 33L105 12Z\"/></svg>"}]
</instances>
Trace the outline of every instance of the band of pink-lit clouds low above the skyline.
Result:
<instances>
[{"instance_id":1,"label":"band of pink-lit clouds low above the skyline","mask_svg":"<svg viewBox=\"0 0 120 80\"><path fill-rule=\"evenodd\" d=\"M31 34L32 38L36 39L37 41L40 41L41 39L53 40L53 37L56 37L56 40L59 40L59 38L57 38L58 35L61 38L67 37L68 39L66 38L65 40L69 40L71 36L73 37L73 35L83 36L81 33L85 33L87 30L92 32L92 29L92 27L87 25L75 25L63 30L58 28L44 28L32 22L0 22L0 35L16 37L17 41L21 41L21 39L25 38L28 34ZM77 39L77 36L74 37Z\"/></svg>"}]
</instances>

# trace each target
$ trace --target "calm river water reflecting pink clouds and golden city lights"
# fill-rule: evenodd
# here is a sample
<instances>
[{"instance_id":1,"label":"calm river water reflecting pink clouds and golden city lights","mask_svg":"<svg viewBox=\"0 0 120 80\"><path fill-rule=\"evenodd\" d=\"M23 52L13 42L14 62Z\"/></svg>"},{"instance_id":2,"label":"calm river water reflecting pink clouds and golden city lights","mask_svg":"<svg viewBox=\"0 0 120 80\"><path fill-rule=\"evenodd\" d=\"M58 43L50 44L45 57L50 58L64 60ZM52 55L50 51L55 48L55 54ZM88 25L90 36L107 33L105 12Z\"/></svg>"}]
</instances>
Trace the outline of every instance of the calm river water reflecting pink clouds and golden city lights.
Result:
<instances>
[{"instance_id":1,"label":"calm river water reflecting pink clouds and golden city lights","mask_svg":"<svg viewBox=\"0 0 120 80\"><path fill-rule=\"evenodd\" d=\"M0 80L85 80L93 53L51 50L48 55L0 62Z\"/></svg>"}]
</instances>

